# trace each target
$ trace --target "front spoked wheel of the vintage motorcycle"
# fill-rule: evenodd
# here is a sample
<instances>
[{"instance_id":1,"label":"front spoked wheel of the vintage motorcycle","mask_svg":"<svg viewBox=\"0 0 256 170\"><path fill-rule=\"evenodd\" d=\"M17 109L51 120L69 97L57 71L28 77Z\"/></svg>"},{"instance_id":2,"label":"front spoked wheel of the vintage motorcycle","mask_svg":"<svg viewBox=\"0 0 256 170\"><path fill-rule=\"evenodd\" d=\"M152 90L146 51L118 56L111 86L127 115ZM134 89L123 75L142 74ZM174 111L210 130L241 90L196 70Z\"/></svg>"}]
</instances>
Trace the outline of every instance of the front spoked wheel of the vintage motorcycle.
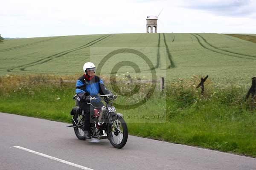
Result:
<instances>
[{"instance_id":1,"label":"front spoked wheel of the vintage motorcycle","mask_svg":"<svg viewBox=\"0 0 256 170\"><path fill-rule=\"evenodd\" d=\"M122 148L125 146L128 139L128 129L122 117L117 116L113 119L113 127L110 123L108 124L108 136L113 147Z\"/></svg>"}]
</instances>

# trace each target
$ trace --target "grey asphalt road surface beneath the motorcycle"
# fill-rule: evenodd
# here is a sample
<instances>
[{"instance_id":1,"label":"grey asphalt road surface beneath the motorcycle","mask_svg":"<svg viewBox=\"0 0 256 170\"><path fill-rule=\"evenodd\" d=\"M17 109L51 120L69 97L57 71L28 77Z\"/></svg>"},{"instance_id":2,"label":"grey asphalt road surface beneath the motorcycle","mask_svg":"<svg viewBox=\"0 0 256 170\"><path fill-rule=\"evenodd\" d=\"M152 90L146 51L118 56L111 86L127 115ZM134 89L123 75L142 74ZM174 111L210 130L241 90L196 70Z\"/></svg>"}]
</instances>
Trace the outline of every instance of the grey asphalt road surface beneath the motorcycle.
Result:
<instances>
[{"instance_id":1,"label":"grey asphalt road surface beneath the motorcycle","mask_svg":"<svg viewBox=\"0 0 256 170\"><path fill-rule=\"evenodd\" d=\"M256 159L128 136L122 149L108 139L81 141L72 127L26 116L0 113L0 170L79 170L23 147L93 170L256 170Z\"/></svg>"}]
</instances>

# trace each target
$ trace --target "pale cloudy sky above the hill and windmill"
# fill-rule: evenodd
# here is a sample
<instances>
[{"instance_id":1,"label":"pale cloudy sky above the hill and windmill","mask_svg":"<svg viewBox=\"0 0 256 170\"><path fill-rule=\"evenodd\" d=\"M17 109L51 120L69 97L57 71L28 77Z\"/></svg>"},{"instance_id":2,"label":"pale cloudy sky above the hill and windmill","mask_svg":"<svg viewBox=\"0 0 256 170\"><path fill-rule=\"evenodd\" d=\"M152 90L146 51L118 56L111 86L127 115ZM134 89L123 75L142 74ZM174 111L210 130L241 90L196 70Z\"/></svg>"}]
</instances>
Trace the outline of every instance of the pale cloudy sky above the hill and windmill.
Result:
<instances>
[{"instance_id":1,"label":"pale cloudy sky above the hill and windmill","mask_svg":"<svg viewBox=\"0 0 256 170\"><path fill-rule=\"evenodd\" d=\"M157 32L256 34L256 0L4 0L2 37Z\"/></svg>"}]
</instances>

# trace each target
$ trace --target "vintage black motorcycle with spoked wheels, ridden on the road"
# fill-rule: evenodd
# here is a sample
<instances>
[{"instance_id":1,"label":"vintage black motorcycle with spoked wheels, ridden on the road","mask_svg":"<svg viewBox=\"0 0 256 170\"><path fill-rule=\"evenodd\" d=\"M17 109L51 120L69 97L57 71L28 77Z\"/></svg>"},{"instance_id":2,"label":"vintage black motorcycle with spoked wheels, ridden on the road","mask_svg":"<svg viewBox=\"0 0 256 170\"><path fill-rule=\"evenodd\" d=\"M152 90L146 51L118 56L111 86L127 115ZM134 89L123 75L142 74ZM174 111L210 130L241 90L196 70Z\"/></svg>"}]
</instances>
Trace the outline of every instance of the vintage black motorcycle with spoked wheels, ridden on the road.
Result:
<instances>
[{"instance_id":1,"label":"vintage black motorcycle with spoked wheels, ridden on the road","mask_svg":"<svg viewBox=\"0 0 256 170\"><path fill-rule=\"evenodd\" d=\"M91 114L90 121L90 136L91 138L97 139L108 139L113 147L122 148L125 146L128 139L128 128L123 119L121 113L117 113L113 105L113 101L117 99L116 95L106 94L100 95L98 98L93 98L91 96L90 101L101 100L105 102L105 106L101 108L94 107L91 102L88 103L94 108L93 115ZM73 99L77 102L77 96L75 95ZM84 137L84 111L79 108L76 104L73 107L71 113L73 115L73 125L68 127L73 127L75 134L78 139L85 140Z\"/></svg>"}]
</instances>

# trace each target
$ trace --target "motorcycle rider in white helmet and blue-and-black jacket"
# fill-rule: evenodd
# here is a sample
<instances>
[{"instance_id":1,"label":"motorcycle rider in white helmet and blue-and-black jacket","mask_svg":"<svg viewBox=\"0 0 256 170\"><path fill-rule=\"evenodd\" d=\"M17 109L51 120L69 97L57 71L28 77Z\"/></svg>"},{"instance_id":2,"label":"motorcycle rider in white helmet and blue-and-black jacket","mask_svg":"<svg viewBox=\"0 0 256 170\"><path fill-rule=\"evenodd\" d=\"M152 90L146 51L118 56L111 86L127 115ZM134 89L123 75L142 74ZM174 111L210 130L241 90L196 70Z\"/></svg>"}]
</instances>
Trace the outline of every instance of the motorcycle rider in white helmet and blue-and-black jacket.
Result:
<instances>
[{"instance_id":1,"label":"motorcycle rider in white helmet and blue-and-black jacket","mask_svg":"<svg viewBox=\"0 0 256 170\"><path fill-rule=\"evenodd\" d=\"M79 100L79 107L84 111L84 137L90 139L90 113L93 113L93 106L102 107L103 103L100 100L92 100L90 102L88 95L99 98L98 94L112 93L105 88L102 79L95 75L96 67L92 62L86 62L83 70L84 75L76 82L76 94Z\"/></svg>"}]
</instances>

